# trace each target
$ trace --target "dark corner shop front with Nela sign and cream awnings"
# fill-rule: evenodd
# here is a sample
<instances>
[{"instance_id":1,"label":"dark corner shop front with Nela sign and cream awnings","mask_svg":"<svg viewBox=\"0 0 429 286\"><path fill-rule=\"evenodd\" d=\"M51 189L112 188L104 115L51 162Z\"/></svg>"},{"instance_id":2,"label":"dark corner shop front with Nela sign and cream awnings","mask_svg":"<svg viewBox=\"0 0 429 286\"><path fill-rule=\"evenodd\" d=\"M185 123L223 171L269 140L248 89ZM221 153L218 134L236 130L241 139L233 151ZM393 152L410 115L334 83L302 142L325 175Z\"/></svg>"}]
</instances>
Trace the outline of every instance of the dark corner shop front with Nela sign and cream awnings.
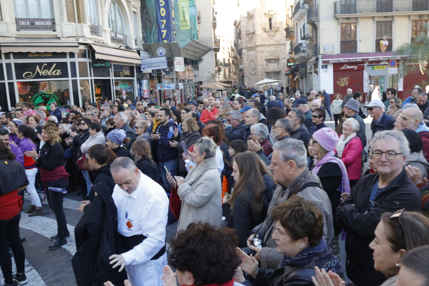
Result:
<instances>
[{"instance_id":1,"label":"dark corner shop front with Nela sign and cream awnings","mask_svg":"<svg viewBox=\"0 0 429 286\"><path fill-rule=\"evenodd\" d=\"M105 97L137 96L136 52L129 51L134 59L114 55L115 51L100 59L87 45L23 45L1 44L0 93L6 96L0 97L0 105L4 109L10 110L16 102L33 102L36 107L57 102L66 112L71 105L101 104Z\"/></svg>"}]
</instances>

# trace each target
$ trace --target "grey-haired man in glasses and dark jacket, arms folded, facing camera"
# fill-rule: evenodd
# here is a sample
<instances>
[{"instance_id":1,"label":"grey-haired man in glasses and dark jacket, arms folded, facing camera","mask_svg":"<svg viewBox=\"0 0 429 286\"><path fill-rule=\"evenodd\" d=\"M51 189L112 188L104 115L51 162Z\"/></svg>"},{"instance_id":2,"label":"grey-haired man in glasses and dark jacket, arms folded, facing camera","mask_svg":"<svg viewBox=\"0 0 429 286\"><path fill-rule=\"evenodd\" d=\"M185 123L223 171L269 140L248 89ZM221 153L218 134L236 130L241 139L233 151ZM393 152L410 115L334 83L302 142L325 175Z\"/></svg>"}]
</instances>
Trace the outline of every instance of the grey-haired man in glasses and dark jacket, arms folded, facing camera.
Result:
<instances>
[{"instance_id":1,"label":"grey-haired man in glasses and dark jacket, arms folded, facing camera","mask_svg":"<svg viewBox=\"0 0 429 286\"><path fill-rule=\"evenodd\" d=\"M410 154L405 135L398 130L377 132L371 140L373 168L378 172L361 178L340 203L335 219L347 232L347 277L355 285L378 286L386 276L374 269L369 244L385 212L419 211L421 195L403 167Z\"/></svg>"}]
</instances>

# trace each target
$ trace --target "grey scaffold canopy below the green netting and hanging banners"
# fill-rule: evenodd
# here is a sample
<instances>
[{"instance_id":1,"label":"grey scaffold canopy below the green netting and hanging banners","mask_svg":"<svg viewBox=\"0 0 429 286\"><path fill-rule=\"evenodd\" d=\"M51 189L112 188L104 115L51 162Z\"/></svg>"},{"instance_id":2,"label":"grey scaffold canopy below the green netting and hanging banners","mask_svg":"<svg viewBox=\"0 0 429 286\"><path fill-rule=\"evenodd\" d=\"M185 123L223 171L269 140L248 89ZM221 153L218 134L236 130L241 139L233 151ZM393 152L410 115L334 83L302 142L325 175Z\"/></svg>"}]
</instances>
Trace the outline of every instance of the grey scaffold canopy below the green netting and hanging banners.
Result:
<instances>
[{"instance_id":1,"label":"grey scaffold canopy below the green netting and hanging banners","mask_svg":"<svg viewBox=\"0 0 429 286\"><path fill-rule=\"evenodd\" d=\"M191 60L201 60L205 54L212 50L211 47L197 40L190 41L183 48L180 48L177 42L143 44L143 48L151 54L151 57L159 57L157 49L164 48L166 53L163 54L163 57L186 57Z\"/></svg>"}]
</instances>

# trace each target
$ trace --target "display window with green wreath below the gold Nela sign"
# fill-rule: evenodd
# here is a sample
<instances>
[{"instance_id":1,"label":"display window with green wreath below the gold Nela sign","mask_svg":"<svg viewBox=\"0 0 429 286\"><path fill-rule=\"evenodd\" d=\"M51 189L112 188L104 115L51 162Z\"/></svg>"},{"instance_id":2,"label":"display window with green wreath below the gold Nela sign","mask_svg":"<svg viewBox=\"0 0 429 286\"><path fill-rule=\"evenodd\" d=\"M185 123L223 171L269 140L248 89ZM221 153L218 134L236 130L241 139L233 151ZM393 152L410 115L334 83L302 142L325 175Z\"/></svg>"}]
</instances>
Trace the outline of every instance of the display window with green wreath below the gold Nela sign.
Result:
<instances>
[{"instance_id":1,"label":"display window with green wreath below the gold Nela sign","mask_svg":"<svg viewBox=\"0 0 429 286\"><path fill-rule=\"evenodd\" d=\"M19 81L16 85L21 102L32 102L36 107L51 102L61 106L70 104L68 81Z\"/></svg>"}]
</instances>

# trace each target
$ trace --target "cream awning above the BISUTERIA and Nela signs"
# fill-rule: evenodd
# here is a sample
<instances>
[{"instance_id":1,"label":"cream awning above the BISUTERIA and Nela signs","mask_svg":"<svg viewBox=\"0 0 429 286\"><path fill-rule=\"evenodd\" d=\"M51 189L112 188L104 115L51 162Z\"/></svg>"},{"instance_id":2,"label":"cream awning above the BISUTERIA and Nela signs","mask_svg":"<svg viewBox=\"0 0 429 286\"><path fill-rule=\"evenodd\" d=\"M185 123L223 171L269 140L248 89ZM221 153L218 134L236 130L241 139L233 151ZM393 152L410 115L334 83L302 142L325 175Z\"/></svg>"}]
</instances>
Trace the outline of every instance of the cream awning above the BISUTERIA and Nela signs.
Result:
<instances>
[{"instance_id":1,"label":"cream awning above the BISUTERIA and Nela signs","mask_svg":"<svg viewBox=\"0 0 429 286\"><path fill-rule=\"evenodd\" d=\"M38 42L25 42L25 43L1 43L2 53L79 53L78 43L67 42L51 42L51 43L38 43Z\"/></svg>"}]
</instances>

